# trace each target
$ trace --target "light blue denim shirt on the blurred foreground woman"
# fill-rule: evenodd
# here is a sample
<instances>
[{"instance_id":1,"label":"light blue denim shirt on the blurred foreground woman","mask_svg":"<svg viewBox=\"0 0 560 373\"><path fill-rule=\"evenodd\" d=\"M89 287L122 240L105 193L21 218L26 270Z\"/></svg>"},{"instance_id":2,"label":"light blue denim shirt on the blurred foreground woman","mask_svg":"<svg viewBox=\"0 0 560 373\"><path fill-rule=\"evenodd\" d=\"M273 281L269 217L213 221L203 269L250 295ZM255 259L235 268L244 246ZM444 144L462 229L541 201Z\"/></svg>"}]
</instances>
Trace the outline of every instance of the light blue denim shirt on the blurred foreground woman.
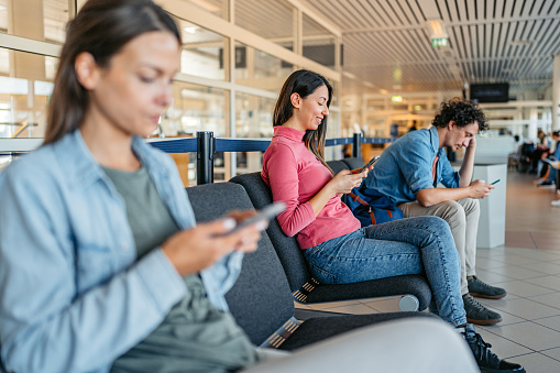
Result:
<instances>
[{"instance_id":1,"label":"light blue denim shirt on the blurred foreground woman","mask_svg":"<svg viewBox=\"0 0 560 373\"><path fill-rule=\"evenodd\" d=\"M180 229L195 217L177 168L134 138ZM188 292L161 248L136 261L127 211L79 131L0 173L1 359L17 372L107 372ZM208 298L223 295L241 268L230 254L200 273Z\"/></svg>"}]
</instances>

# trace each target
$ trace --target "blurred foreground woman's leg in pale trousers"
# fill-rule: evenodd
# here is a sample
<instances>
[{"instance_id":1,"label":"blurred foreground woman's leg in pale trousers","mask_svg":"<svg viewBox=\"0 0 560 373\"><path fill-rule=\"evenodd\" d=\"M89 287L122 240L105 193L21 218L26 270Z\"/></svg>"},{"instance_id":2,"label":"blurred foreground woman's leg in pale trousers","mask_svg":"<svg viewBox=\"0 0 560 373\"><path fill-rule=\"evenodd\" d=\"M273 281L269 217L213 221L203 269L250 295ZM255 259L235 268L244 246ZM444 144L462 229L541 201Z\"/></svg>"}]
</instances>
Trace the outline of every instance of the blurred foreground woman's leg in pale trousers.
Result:
<instances>
[{"instance_id":1,"label":"blurred foreground woman's leg in pale trousers","mask_svg":"<svg viewBox=\"0 0 560 373\"><path fill-rule=\"evenodd\" d=\"M438 320L403 319L361 328L265 360L245 373L479 372L461 334Z\"/></svg>"}]
</instances>

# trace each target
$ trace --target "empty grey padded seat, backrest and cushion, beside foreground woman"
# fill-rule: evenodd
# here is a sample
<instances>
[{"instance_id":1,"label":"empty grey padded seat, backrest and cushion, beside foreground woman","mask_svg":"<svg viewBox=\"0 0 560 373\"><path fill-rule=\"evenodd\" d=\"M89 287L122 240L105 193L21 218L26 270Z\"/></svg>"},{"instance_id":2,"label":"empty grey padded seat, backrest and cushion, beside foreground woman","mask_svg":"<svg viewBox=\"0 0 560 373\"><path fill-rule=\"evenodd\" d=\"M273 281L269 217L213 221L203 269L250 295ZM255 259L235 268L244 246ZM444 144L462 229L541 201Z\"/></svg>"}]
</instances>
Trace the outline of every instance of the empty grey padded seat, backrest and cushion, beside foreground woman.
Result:
<instances>
[{"instance_id":1,"label":"empty grey padded seat, backrest and cushion, beside foreground woman","mask_svg":"<svg viewBox=\"0 0 560 373\"><path fill-rule=\"evenodd\" d=\"M187 193L199 222L218 219L233 209L253 208L244 188L233 183L189 187ZM299 323L294 319L294 298L286 275L266 232L263 232L259 249L244 256L241 274L226 299L237 322L256 345L276 341L281 336L275 332L284 325ZM394 312L310 318L294 332L283 332L287 339L278 348L294 350L355 328L403 317L435 316Z\"/></svg>"}]
</instances>

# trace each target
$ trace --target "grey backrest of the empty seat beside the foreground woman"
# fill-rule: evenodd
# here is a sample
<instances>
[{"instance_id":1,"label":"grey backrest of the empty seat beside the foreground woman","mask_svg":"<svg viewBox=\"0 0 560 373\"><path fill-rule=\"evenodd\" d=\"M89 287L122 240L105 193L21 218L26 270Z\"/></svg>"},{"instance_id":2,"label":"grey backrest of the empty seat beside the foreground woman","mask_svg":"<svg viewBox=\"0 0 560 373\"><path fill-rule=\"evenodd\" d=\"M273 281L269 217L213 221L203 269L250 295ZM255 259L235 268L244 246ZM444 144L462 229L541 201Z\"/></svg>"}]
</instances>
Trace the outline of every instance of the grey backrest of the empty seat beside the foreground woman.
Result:
<instances>
[{"instance_id":1,"label":"grey backrest of the empty seat beside the foreground woman","mask_svg":"<svg viewBox=\"0 0 560 373\"><path fill-rule=\"evenodd\" d=\"M187 194L198 222L253 208L245 189L233 183L189 187ZM266 232L259 249L243 257L241 274L226 300L235 321L256 345L294 316L294 298Z\"/></svg>"}]
</instances>

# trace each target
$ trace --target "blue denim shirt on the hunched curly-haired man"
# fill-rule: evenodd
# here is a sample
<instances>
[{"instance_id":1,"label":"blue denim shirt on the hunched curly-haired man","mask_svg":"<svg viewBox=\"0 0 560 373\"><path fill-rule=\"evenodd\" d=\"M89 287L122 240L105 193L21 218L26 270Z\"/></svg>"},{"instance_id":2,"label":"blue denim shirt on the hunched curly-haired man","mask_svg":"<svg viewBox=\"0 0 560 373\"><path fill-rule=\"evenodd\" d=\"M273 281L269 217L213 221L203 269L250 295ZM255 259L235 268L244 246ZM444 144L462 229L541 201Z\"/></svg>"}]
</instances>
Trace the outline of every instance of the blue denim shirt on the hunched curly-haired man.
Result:
<instances>
[{"instance_id":1,"label":"blue denim shirt on the hunched curly-haired man","mask_svg":"<svg viewBox=\"0 0 560 373\"><path fill-rule=\"evenodd\" d=\"M413 131L388 146L367 174L364 183L400 205L416 200L421 189L436 188L439 183L448 188L459 188L460 176L449 162L443 147L438 149L438 130ZM439 156L436 183L431 168Z\"/></svg>"}]
</instances>

